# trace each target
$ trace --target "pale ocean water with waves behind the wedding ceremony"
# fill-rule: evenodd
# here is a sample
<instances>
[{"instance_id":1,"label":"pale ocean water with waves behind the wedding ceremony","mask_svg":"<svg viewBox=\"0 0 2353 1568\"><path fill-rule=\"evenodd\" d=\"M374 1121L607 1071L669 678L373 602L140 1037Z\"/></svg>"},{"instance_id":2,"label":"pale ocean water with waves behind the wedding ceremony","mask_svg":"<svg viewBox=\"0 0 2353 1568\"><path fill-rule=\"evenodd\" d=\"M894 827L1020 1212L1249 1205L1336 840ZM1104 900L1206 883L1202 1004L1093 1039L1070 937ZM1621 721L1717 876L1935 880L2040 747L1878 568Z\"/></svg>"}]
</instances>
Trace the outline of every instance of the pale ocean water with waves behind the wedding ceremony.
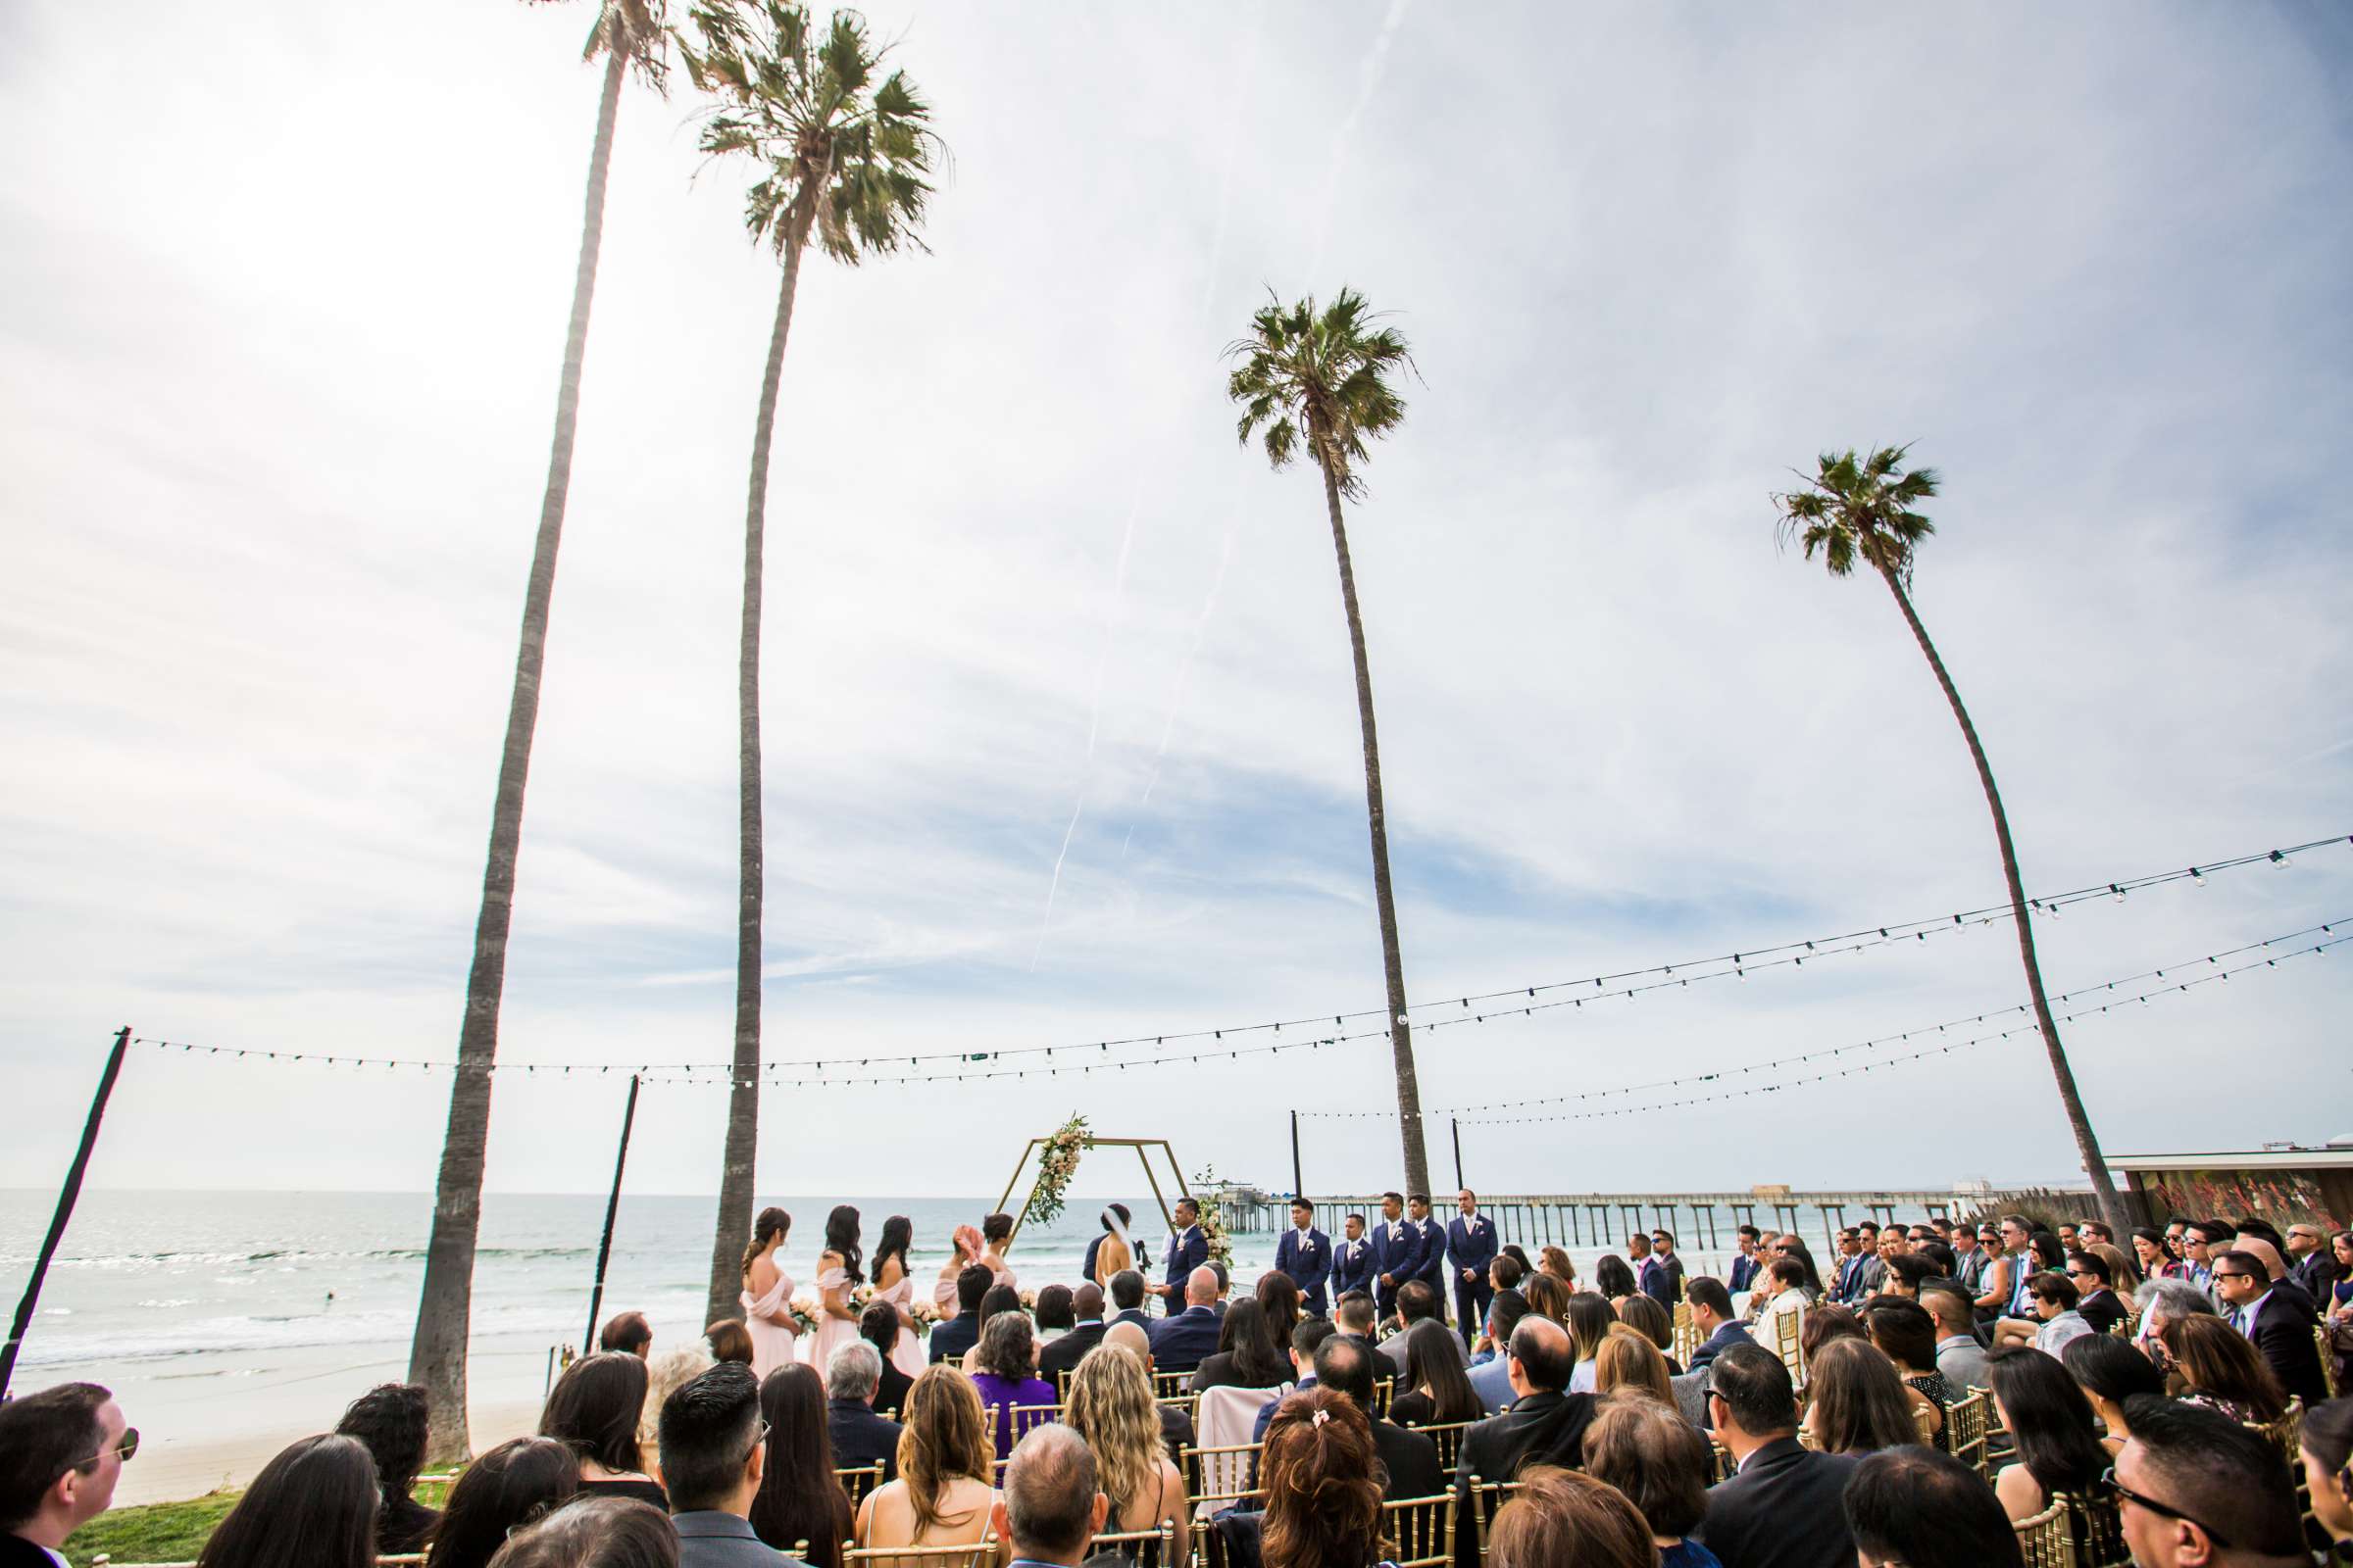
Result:
<instances>
[{"instance_id":1,"label":"pale ocean water with waves behind the wedding ceremony","mask_svg":"<svg viewBox=\"0 0 2353 1568\"><path fill-rule=\"evenodd\" d=\"M955 1225L988 1199L779 1199L793 1213L786 1272L809 1286L826 1211L864 1215L868 1248L885 1215L915 1227L911 1267L927 1291ZM1024 1227L1009 1262L1024 1286L1078 1279L1108 1197L1073 1199L1047 1227ZM1146 1197L1139 1253L1158 1258L1165 1225ZM49 1222L54 1192L0 1192L0 1309L12 1307ZM704 1331L711 1197L624 1197L602 1314L635 1307L654 1349ZM588 1326L602 1194L487 1194L473 1284L468 1403L480 1432L529 1427L558 1345ZM362 1389L407 1371L433 1199L424 1192L85 1192L42 1286L14 1392L92 1380L115 1389L141 1429L125 1500L193 1495L249 1465L226 1455L322 1432ZM1334 1225L1327 1229L1337 1237ZM1572 1248L1588 1272L1598 1248ZM1235 1234L1247 1288L1273 1267L1273 1234ZM1718 1260L1692 1253L1694 1269ZM184 1455L176 1467L169 1455ZM205 1469L221 1460L219 1474ZM198 1481L191 1486L191 1479Z\"/></svg>"}]
</instances>

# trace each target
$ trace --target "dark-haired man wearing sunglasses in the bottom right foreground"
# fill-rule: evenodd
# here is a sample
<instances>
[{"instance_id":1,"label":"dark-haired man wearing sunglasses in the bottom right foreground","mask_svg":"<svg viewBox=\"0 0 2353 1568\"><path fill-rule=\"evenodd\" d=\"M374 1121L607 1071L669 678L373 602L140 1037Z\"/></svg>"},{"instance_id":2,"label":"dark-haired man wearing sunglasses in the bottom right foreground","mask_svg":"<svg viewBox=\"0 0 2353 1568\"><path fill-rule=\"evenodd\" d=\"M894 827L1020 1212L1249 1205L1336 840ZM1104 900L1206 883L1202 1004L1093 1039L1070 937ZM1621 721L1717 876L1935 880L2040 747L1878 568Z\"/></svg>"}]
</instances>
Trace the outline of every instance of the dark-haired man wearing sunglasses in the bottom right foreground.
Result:
<instances>
[{"instance_id":1,"label":"dark-haired man wearing sunglasses in the bottom right foreground","mask_svg":"<svg viewBox=\"0 0 2353 1568\"><path fill-rule=\"evenodd\" d=\"M2167 1399L2134 1399L2129 1420L2113 1486L2139 1568L2308 1568L2297 1488L2271 1439Z\"/></svg>"}]
</instances>

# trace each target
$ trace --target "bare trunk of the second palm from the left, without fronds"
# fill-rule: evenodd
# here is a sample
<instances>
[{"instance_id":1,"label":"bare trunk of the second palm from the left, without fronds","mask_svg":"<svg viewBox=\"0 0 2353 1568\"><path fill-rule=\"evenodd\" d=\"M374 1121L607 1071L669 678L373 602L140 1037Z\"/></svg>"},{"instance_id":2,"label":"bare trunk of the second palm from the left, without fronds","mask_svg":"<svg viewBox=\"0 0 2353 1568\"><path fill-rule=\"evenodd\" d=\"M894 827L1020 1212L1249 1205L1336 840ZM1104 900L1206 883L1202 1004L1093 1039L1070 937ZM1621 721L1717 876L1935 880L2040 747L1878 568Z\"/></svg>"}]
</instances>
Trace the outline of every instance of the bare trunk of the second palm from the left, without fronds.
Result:
<instances>
[{"instance_id":1,"label":"bare trunk of the second palm from the left, without fronds","mask_svg":"<svg viewBox=\"0 0 2353 1568\"><path fill-rule=\"evenodd\" d=\"M760 418L751 433L751 496L744 503L744 642L736 654L736 1048L727 1086L727 1150L720 1159L720 1218L711 1241L711 1314L739 1316L744 1239L751 1234L751 1171L760 1152L760 571L767 550L767 454L776 435L784 341L793 331L800 244L784 247L776 324L760 376Z\"/></svg>"}]
</instances>

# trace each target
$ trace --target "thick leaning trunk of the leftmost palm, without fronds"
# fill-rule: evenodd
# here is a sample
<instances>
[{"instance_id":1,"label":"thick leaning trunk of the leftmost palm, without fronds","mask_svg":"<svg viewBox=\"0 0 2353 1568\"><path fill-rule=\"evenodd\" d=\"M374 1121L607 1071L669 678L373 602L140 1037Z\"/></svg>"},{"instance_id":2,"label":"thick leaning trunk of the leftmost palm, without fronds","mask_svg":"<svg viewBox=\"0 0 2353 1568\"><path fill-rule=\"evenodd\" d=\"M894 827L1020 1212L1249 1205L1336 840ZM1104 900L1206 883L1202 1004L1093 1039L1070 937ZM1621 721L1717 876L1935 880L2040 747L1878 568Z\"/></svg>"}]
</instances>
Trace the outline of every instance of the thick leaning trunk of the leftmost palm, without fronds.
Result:
<instances>
[{"instance_id":1,"label":"thick leaning trunk of the leftmost palm, without fronds","mask_svg":"<svg viewBox=\"0 0 2353 1568\"><path fill-rule=\"evenodd\" d=\"M482 867L482 910L473 924L473 969L466 976L466 1020L456 1037L449 1084L449 1126L442 1133L440 1180L433 1190L433 1239L409 1345L409 1382L426 1385L431 1410L428 1458L464 1460L466 1338L473 1324L473 1248L482 1229L482 1154L489 1145L489 1070L499 1056L499 999L506 994L506 933L515 910L515 853L522 846L522 785L532 771L539 729L539 668L548 651L548 604L555 597L555 550L565 534L572 489L572 435L581 407L581 360L588 355L588 301L595 294L598 244L605 237L605 174L612 127L621 113L624 52L605 59L605 92L588 153L588 200L581 214L579 270L572 277L572 324L565 369L555 386L555 442L548 447L548 489L539 501L539 541L522 595L522 644L515 651L515 691L506 708L499 752L499 795L489 811L489 863Z\"/></svg>"}]
</instances>

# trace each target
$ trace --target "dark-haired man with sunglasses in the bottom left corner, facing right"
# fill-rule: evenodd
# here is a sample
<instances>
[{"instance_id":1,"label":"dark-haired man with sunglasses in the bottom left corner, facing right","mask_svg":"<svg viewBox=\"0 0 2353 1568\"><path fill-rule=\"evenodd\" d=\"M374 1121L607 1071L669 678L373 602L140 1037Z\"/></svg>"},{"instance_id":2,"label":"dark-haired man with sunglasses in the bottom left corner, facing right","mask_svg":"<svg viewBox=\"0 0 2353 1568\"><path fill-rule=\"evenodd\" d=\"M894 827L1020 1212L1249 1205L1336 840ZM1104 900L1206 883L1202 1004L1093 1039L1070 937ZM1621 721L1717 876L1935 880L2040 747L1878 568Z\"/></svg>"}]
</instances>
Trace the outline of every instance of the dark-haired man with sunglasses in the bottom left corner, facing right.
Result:
<instances>
[{"instance_id":1,"label":"dark-haired man with sunglasses in the bottom left corner, facing right","mask_svg":"<svg viewBox=\"0 0 2353 1568\"><path fill-rule=\"evenodd\" d=\"M96 1382L0 1403L0 1563L61 1563L66 1537L115 1502L139 1434Z\"/></svg>"}]
</instances>

